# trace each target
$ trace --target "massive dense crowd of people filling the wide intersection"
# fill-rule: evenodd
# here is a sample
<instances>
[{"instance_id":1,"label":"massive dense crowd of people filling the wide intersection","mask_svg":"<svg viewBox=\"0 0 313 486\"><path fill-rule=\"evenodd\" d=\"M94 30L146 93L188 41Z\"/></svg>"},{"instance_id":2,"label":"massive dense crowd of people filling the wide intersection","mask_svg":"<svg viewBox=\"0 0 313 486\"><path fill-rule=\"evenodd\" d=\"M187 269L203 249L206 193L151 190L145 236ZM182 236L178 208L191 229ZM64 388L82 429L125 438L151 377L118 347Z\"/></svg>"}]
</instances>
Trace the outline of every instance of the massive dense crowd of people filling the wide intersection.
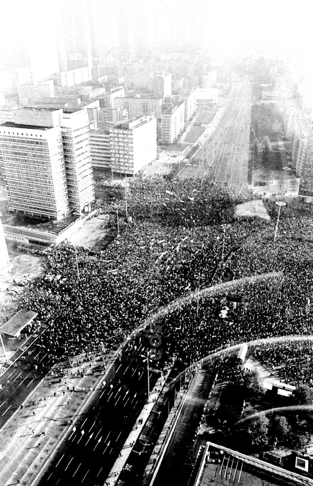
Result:
<instances>
[{"instance_id":1,"label":"massive dense crowd of people filling the wide intersection","mask_svg":"<svg viewBox=\"0 0 313 486\"><path fill-rule=\"evenodd\" d=\"M118 211L126 229L96 257L77 248L78 270L69 244L48 256L50 273L61 278L37 282L22 303L51 322L40 346L54 359L112 346L156 311L155 295L157 307L180 299L158 321L160 349L186 363L235 343L310 334L313 245L308 230L313 222L283 209L274 243L276 213L272 222L238 219L238 202L206 179L165 177L129 182L127 219L125 199L97 201L94 208L109 214L112 224ZM191 292L221 283L224 275L233 281L184 301ZM236 308L227 300L229 293L241 297Z\"/></svg>"}]
</instances>

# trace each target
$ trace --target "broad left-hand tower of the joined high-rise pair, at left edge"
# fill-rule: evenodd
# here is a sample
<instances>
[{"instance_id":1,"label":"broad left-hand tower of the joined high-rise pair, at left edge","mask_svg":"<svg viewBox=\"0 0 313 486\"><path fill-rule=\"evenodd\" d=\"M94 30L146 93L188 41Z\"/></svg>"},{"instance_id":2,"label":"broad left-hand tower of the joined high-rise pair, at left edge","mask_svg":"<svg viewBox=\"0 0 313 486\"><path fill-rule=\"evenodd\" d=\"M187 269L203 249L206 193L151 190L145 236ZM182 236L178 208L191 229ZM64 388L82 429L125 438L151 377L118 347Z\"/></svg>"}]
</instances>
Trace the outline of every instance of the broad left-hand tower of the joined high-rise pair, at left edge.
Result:
<instances>
[{"instance_id":1,"label":"broad left-hand tower of the joined high-rise pair, at left edge","mask_svg":"<svg viewBox=\"0 0 313 486\"><path fill-rule=\"evenodd\" d=\"M23 108L0 125L1 168L10 210L62 219L69 211L62 110Z\"/></svg>"}]
</instances>

